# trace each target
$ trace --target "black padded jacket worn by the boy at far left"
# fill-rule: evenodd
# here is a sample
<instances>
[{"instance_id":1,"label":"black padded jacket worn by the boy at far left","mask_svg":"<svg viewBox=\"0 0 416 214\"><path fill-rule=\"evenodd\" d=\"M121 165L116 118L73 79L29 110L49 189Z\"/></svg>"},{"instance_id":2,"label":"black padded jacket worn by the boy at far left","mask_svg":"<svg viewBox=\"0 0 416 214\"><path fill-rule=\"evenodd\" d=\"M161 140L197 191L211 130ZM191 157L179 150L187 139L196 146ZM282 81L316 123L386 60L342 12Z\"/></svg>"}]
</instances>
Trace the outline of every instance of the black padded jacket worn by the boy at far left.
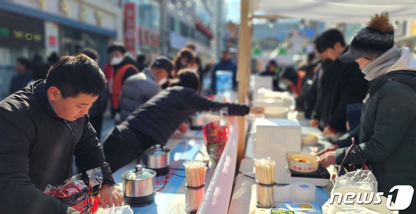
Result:
<instances>
[{"instance_id":1,"label":"black padded jacket worn by the boy at far left","mask_svg":"<svg viewBox=\"0 0 416 214\"><path fill-rule=\"evenodd\" d=\"M43 193L47 184L57 185L72 176L74 155L84 170L101 167L104 184L114 184L88 117L59 118L43 80L0 103L0 129L1 213L79 213Z\"/></svg>"}]
</instances>

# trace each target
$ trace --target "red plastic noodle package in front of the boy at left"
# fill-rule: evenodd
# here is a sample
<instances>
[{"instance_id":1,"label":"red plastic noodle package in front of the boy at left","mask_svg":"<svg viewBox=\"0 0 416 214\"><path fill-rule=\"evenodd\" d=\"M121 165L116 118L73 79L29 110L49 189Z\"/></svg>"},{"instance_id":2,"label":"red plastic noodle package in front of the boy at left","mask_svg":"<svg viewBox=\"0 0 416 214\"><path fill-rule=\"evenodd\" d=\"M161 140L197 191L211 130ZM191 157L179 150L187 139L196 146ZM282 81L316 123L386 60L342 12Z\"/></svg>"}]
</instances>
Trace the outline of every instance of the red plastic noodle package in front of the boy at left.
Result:
<instances>
[{"instance_id":1,"label":"red plastic noodle package in front of the boy at left","mask_svg":"<svg viewBox=\"0 0 416 214\"><path fill-rule=\"evenodd\" d=\"M82 175L79 174L70 177L64 184L56 187L48 184L43 192L59 199L81 214L95 214L98 210L98 193L103 181L101 168L88 170L87 175L89 186L84 184L81 179Z\"/></svg>"}]
</instances>

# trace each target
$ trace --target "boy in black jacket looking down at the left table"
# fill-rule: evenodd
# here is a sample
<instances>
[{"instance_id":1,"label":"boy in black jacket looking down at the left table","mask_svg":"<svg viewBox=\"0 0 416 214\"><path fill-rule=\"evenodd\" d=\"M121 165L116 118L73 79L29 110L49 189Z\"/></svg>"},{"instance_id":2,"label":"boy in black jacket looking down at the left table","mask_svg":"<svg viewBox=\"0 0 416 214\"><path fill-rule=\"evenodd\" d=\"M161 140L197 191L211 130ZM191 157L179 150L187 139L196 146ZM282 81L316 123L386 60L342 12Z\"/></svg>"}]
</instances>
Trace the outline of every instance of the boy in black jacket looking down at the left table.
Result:
<instances>
[{"instance_id":1,"label":"boy in black jacket looking down at the left table","mask_svg":"<svg viewBox=\"0 0 416 214\"><path fill-rule=\"evenodd\" d=\"M87 116L105 85L97 62L79 54L0 102L0 213L79 214L43 193L72 177L74 156L83 170L101 167L104 208L123 203Z\"/></svg>"}]
</instances>

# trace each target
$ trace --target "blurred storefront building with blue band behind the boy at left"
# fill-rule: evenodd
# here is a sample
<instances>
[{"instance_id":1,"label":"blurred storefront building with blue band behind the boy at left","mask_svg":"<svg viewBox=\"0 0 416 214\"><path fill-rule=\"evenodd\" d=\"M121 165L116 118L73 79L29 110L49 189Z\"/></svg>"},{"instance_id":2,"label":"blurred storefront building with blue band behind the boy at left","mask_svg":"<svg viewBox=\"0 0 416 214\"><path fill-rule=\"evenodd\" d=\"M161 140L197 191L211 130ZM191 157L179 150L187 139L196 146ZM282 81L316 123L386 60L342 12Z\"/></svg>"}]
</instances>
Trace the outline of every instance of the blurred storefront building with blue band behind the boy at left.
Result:
<instances>
[{"instance_id":1,"label":"blurred storefront building with blue band behind the boy at left","mask_svg":"<svg viewBox=\"0 0 416 214\"><path fill-rule=\"evenodd\" d=\"M112 0L0 0L3 87L8 88L18 57L38 54L46 61L52 53L73 56L92 47L99 53L99 65L104 65L107 45L122 41L122 15L121 6Z\"/></svg>"}]
</instances>

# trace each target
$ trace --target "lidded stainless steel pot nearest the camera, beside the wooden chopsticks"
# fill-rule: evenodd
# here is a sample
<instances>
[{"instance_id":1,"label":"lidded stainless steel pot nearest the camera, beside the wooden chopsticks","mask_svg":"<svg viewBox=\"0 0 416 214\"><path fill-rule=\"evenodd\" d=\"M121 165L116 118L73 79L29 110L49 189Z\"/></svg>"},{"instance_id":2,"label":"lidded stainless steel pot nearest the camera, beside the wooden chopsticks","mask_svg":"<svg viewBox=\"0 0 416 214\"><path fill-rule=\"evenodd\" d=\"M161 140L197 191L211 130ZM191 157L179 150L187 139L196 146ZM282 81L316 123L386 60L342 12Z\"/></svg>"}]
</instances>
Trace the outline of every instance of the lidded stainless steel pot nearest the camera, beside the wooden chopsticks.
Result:
<instances>
[{"instance_id":1,"label":"lidded stainless steel pot nearest the camera, beside the wooden chopsticks","mask_svg":"<svg viewBox=\"0 0 416 214\"><path fill-rule=\"evenodd\" d=\"M124 172L123 194L127 204L147 204L154 201L156 172L136 165L134 170Z\"/></svg>"}]
</instances>

